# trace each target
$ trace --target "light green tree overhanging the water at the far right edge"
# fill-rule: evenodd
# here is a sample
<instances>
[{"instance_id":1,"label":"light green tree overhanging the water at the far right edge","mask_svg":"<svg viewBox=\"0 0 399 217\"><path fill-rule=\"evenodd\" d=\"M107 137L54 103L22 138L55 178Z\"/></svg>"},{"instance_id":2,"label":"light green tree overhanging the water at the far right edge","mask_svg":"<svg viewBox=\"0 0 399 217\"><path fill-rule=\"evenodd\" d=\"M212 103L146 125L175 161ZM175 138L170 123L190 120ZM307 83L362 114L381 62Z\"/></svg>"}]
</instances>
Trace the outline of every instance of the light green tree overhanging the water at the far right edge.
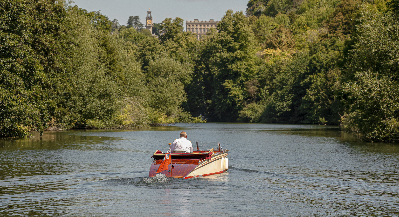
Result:
<instances>
[{"instance_id":1,"label":"light green tree overhanging the water at the far right edge","mask_svg":"<svg viewBox=\"0 0 399 217\"><path fill-rule=\"evenodd\" d=\"M362 6L343 77L342 124L366 141L399 141L399 21Z\"/></svg>"}]
</instances>

